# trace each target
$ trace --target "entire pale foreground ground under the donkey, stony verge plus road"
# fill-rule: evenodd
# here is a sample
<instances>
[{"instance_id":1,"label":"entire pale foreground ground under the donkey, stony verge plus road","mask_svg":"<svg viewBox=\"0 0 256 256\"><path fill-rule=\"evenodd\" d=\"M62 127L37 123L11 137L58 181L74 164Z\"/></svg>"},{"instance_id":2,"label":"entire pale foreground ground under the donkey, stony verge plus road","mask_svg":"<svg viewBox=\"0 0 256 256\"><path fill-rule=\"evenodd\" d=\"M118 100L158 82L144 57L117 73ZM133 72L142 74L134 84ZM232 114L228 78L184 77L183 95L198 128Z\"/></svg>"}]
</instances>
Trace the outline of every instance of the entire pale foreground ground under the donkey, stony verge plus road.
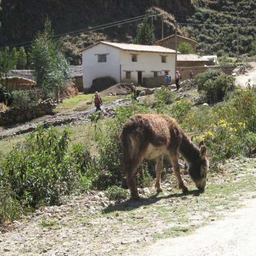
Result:
<instances>
[{"instance_id":1,"label":"entire pale foreground ground under the donkey, stony verge plus road","mask_svg":"<svg viewBox=\"0 0 256 256\"><path fill-rule=\"evenodd\" d=\"M228 161L225 170L209 175L204 192L183 175L190 192L182 194L171 175L163 193L150 186L140 190L138 202L87 192L41 207L7 226L9 231L0 229L0 255L252 255L256 160ZM234 212L243 202L251 207Z\"/></svg>"}]
</instances>

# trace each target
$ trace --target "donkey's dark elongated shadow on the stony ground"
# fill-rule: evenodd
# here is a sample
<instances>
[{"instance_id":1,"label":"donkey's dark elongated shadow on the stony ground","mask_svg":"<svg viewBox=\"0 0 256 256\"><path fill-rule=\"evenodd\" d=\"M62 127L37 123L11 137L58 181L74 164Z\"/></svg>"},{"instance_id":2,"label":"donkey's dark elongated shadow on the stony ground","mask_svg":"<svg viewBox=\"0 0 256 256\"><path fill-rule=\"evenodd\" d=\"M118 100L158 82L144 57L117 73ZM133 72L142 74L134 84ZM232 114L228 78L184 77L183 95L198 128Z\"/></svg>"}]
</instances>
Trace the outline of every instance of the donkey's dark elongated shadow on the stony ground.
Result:
<instances>
[{"instance_id":1,"label":"donkey's dark elongated shadow on the stony ground","mask_svg":"<svg viewBox=\"0 0 256 256\"><path fill-rule=\"evenodd\" d=\"M200 196L204 190L190 190L186 193L173 193L169 195L159 196L159 194L154 194L148 198L140 198L139 200L127 200L122 203L117 203L116 205L106 207L103 212L104 213L112 213L113 211L131 211L133 209L137 209L141 206L151 205L156 203L162 199L169 198L182 198L184 196L192 195L192 196Z\"/></svg>"}]
</instances>

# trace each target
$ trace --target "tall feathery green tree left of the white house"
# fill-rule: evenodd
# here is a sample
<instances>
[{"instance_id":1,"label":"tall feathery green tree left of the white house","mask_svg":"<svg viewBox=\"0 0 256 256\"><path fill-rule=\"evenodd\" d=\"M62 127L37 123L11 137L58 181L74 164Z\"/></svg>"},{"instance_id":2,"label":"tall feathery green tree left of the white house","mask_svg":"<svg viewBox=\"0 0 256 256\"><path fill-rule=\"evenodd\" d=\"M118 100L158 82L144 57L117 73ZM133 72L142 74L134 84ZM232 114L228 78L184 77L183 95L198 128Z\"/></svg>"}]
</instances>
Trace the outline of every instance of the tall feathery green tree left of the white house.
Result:
<instances>
[{"instance_id":1,"label":"tall feathery green tree left of the white house","mask_svg":"<svg viewBox=\"0 0 256 256\"><path fill-rule=\"evenodd\" d=\"M32 43L32 68L37 84L41 85L45 97L53 96L59 101L60 87L70 80L70 66L60 45L53 40L51 22L45 22L45 29L38 33Z\"/></svg>"}]
</instances>

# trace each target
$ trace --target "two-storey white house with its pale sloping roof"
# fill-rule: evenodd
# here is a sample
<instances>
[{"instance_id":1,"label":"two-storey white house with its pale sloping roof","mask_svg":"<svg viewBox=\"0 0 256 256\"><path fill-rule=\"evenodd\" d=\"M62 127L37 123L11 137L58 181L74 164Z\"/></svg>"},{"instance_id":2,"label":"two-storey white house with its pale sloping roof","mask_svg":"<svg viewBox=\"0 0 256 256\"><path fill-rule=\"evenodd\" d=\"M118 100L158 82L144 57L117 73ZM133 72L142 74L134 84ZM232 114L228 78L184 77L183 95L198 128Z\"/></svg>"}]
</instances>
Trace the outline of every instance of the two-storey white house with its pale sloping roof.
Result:
<instances>
[{"instance_id":1,"label":"two-storey white house with its pale sloping roof","mask_svg":"<svg viewBox=\"0 0 256 256\"><path fill-rule=\"evenodd\" d=\"M158 45L133 45L100 41L83 50L83 89L93 79L112 77L117 83L142 85L144 77L175 74L175 51Z\"/></svg>"}]
</instances>

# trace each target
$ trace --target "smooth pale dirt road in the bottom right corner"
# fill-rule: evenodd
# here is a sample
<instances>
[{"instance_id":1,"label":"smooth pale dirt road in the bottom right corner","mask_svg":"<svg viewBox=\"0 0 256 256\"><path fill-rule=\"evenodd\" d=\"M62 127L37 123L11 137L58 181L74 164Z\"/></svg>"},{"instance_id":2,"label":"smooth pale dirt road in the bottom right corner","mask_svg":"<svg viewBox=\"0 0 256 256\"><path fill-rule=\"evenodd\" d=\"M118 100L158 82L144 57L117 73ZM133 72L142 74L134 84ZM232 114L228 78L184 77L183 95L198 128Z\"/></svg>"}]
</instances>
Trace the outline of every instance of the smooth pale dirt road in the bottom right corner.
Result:
<instances>
[{"instance_id":1,"label":"smooth pale dirt road in the bottom right corner","mask_svg":"<svg viewBox=\"0 0 256 256\"><path fill-rule=\"evenodd\" d=\"M160 240L133 255L255 255L256 200L194 234Z\"/></svg>"}]
</instances>

